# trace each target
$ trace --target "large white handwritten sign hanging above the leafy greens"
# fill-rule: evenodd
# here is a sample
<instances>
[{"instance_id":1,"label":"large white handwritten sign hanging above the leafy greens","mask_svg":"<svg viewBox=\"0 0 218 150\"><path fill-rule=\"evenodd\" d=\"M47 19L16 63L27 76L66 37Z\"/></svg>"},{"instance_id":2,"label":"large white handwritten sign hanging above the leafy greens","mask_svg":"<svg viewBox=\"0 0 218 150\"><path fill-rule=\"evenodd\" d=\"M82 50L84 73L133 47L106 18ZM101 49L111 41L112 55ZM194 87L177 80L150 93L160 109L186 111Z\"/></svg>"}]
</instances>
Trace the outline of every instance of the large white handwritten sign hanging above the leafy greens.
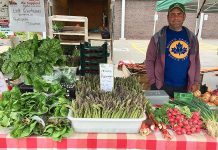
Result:
<instances>
[{"instance_id":1,"label":"large white handwritten sign hanging above the leafy greens","mask_svg":"<svg viewBox=\"0 0 218 150\"><path fill-rule=\"evenodd\" d=\"M9 16L13 31L46 31L44 0L16 0L9 5Z\"/></svg>"}]
</instances>

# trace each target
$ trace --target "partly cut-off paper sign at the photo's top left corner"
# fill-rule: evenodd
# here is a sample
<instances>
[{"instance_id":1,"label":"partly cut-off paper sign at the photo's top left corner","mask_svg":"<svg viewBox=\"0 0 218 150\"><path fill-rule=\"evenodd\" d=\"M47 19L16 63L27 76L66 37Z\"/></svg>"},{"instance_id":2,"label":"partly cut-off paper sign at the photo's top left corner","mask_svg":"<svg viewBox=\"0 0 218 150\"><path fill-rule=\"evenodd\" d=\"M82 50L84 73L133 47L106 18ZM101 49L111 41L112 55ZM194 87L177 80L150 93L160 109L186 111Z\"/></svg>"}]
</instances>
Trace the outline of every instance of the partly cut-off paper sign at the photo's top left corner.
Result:
<instances>
[{"instance_id":1,"label":"partly cut-off paper sign at the photo's top left corner","mask_svg":"<svg viewBox=\"0 0 218 150\"><path fill-rule=\"evenodd\" d=\"M9 11L8 11L9 2L8 0L0 1L0 27L7 27L9 24Z\"/></svg>"}]
</instances>

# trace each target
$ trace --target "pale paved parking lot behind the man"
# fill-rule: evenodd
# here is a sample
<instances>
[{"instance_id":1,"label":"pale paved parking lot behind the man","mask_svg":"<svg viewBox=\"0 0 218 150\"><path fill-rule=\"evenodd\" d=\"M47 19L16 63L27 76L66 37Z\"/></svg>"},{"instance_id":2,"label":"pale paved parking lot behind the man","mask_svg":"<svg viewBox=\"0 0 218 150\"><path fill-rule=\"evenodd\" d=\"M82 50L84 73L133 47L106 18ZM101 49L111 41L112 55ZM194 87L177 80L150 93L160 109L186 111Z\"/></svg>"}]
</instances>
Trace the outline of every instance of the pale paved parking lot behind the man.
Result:
<instances>
[{"instance_id":1,"label":"pale paved parking lot behind the man","mask_svg":"<svg viewBox=\"0 0 218 150\"><path fill-rule=\"evenodd\" d=\"M118 64L120 60L143 62L148 43L148 40L115 40L113 64ZM199 46L201 67L218 67L218 40L200 40ZM205 83L211 89L218 88L218 76L215 76L215 72L204 74L203 84Z\"/></svg>"}]
</instances>

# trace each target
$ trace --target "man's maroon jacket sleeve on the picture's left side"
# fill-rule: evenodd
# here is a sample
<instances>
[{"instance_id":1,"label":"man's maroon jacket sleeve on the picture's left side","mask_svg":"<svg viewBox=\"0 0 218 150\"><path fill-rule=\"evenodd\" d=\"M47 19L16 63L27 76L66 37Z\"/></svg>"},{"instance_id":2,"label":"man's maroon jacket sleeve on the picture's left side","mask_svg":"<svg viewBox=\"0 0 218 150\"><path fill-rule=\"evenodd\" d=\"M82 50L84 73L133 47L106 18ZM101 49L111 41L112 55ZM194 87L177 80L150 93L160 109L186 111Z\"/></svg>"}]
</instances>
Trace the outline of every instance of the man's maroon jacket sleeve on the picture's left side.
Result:
<instances>
[{"instance_id":1,"label":"man's maroon jacket sleeve on the picture's left side","mask_svg":"<svg viewBox=\"0 0 218 150\"><path fill-rule=\"evenodd\" d=\"M145 66L146 66L146 71L147 71L150 85L155 83L154 70L155 70L155 61L157 57L156 55L157 55L156 45L155 45L154 37L152 37L148 45L148 49L146 52L146 59L145 59Z\"/></svg>"}]
</instances>

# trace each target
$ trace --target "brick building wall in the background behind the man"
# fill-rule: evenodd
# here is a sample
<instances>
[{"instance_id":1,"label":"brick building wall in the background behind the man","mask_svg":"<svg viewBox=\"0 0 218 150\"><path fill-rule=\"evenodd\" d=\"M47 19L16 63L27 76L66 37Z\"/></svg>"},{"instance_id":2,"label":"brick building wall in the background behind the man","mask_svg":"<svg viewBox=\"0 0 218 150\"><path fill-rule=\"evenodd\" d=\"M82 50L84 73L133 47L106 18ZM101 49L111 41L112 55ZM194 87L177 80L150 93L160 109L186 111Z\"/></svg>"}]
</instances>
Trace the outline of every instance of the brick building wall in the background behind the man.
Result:
<instances>
[{"instance_id":1,"label":"brick building wall in the background behind the man","mask_svg":"<svg viewBox=\"0 0 218 150\"><path fill-rule=\"evenodd\" d=\"M156 1L125 0L124 38L144 40L150 39L154 33L154 16ZM167 25L167 13L158 12L155 31ZM218 13L208 13L203 21L201 38L218 39ZM196 13L187 13L184 26L195 32ZM114 5L114 39L121 38L122 0L115 0Z\"/></svg>"}]
</instances>

